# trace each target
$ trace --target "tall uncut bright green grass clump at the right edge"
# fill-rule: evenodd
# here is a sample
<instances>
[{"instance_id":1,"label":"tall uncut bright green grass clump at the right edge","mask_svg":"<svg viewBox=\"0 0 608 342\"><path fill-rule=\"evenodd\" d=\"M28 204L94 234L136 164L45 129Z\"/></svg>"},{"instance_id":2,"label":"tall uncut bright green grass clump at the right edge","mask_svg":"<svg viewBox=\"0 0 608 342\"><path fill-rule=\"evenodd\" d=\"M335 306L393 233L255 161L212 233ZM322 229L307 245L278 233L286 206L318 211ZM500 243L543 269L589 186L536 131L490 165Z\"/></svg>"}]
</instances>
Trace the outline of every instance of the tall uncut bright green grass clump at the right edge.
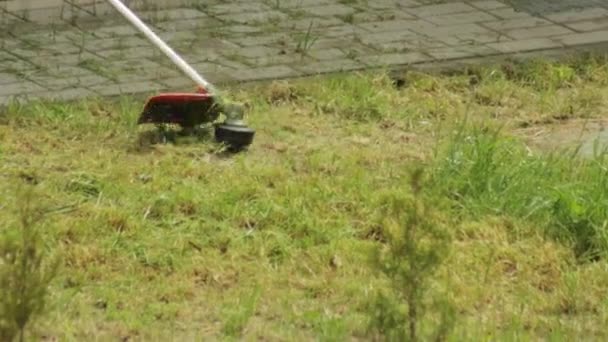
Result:
<instances>
[{"instance_id":1,"label":"tall uncut bright green grass clump at the right edge","mask_svg":"<svg viewBox=\"0 0 608 342\"><path fill-rule=\"evenodd\" d=\"M576 149L534 153L489 127L460 129L446 146L433 177L457 213L534 222L582 259L606 256L603 150L591 159L578 158Z\"/></svg>"}]
</instances>

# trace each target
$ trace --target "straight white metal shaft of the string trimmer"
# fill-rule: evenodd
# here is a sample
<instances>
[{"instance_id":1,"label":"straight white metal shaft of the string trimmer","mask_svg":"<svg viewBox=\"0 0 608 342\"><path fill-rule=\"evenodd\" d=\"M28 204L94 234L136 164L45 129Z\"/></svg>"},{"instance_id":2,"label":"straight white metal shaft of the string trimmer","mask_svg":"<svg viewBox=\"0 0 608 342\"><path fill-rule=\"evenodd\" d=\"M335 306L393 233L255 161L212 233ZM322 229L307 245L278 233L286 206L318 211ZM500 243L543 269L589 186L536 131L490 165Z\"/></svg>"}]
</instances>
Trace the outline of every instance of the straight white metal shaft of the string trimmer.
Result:
<instances>
[{"instance_id":1,"label":"straight white metal shaft of the string trimmer","mask_svg":"<svg viewBox=\"0 0 608 342\"><path fill-rule=\"evenodd\" d=\"M108 0L116 10L118 10L127 20L135 26L141 33L143 33L146 38L148 38L156 47L158 47L162 52L167 55L175 63L175 65L180 68L184 74L194 81L198 86L204 88L207 92L212 95L217 94L217 90L213 86L213 84L209 83L205 80L194 68L192 68L186 61L181 58L167 43L165 43L160 37L158 37L146 24L144 24L141 19L139 19L135 13L133 13L125 4L123 4L120 0Z\"/></svg>"}]
</instances>

